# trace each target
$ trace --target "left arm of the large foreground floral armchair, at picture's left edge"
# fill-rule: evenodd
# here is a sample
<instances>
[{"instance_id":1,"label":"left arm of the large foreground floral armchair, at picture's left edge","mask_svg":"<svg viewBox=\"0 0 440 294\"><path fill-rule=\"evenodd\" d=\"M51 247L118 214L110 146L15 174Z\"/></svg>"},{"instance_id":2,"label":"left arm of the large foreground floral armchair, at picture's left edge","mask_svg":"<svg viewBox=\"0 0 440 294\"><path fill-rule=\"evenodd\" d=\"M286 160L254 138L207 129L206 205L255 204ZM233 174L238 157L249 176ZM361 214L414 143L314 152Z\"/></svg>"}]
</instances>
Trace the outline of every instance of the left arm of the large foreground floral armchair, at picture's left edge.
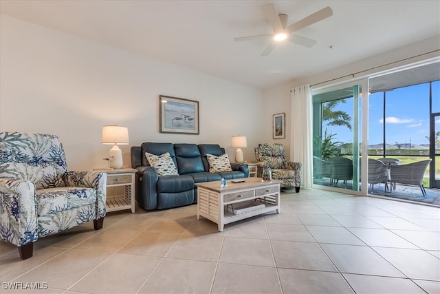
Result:
<instances>
[{"instance_id":1,"label":"left arm of the large foreground floral armchair, at picture's left edge","mask_svg":"<svg viewBox=\"0 0 440 294\"><path fill-rule=\"evenodd\" d=\"M38 240L35 184L0 178L0 238L17 246Z\"/></svg>"}]
</instances>

